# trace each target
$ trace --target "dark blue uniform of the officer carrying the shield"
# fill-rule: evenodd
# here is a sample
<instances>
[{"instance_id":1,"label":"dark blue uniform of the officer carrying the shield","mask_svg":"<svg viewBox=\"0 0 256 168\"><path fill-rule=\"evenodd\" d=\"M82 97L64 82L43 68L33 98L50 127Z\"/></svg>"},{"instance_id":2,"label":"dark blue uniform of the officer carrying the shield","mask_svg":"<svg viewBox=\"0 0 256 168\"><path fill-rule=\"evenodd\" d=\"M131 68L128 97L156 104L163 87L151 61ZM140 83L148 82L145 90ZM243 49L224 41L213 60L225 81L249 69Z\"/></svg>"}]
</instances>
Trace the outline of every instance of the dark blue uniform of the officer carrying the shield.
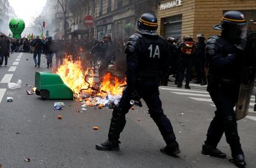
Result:
<instances>
[{"instance_id":1,"label":"dark blue uniform of the officer carrying the shield","mask_svg":"<svg viewBox=\"0 0 256 168\"><path fill-rule=\"evenodd\" d=\"M242 153L233 109L239 93L241 54L234 43L220 36L208 40L206 51L210 63L207 90L216 111L208 128L205 145L216 148L225 133L232 153Z\"/></svg>"}]
</instances>

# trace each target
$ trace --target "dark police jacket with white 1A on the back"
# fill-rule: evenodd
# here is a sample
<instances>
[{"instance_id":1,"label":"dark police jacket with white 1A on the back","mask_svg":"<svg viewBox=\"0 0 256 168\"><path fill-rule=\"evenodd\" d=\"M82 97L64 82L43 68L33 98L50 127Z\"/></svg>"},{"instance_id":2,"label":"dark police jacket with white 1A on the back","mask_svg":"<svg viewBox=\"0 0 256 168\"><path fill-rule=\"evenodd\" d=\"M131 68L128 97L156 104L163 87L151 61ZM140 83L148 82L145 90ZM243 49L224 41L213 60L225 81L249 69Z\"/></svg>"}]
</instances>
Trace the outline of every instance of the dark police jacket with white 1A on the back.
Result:
<instances>
[{"instance_id":1,"label":"dark police jacket with white 1A on the back","mask_svg":"<svg viewBox=\"0 0 256 168\"><path fill-rule=\"evenodd\" d=\"M159 80L168 71L168 44L160 36L135 33L127 46L127 84L136 85L137 80Z\"/></svg>"}]
</instances>

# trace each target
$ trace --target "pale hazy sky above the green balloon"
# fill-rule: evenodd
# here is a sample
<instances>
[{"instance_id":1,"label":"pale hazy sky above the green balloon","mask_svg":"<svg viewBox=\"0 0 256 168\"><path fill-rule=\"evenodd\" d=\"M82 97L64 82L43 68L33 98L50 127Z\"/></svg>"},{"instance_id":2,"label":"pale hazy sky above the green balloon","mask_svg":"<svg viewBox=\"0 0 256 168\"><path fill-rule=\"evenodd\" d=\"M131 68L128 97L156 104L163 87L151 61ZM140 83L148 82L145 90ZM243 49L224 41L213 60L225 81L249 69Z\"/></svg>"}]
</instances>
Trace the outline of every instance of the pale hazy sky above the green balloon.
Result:
<instances>
[{"instance_id":1,"label":"pale hazy sky above the green balloon","mask_svg":"<svg viewBox=\"0 0 256 168\"><path fill-rule=\"evenodd\" d=\"M25 21L26 27L30 25L31 18L41 14L47 0L9 0L15 14Z\"/></svg>"}]
</instances>

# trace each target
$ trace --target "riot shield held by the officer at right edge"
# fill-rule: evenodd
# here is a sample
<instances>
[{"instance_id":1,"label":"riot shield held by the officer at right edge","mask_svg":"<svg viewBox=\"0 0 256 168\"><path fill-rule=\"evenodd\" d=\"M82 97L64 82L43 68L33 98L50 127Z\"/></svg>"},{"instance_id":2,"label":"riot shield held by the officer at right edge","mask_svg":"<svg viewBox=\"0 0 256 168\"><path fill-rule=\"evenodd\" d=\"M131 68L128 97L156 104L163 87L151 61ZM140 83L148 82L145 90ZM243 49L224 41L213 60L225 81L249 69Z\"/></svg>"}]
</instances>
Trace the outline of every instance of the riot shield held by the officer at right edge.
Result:
<instances>
[{"instance_id":1,"label":"riot shield held by the officer at right edge","mask_svg":"<svg viewBox=\"0 0 256 168\"><path fill-rule=\"evenodd\" d=\"M236 104L237 120L243 119L248 114L252 89L254 88L256 70L256 33L250 33L247 36L241 70L241 84Z\"/></svg>"}]
</instances>

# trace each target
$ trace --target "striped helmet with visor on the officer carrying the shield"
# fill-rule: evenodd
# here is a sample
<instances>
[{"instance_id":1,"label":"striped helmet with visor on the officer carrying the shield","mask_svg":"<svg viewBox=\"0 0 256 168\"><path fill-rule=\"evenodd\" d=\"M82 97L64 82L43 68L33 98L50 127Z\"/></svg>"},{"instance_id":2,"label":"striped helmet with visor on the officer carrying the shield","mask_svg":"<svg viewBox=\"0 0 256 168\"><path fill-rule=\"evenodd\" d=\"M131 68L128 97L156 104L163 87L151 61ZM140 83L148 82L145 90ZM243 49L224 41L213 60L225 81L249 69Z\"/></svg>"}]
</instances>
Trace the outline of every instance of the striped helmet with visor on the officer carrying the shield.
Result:
<instances>
[{"instance_id":1,"label":"striped helmet with visor on the officer carrying the shield","mask_svg":"<svg viewBox=\"0 0 256 168\"><path fill-rule=\"evenodd\" d=\"M214 25L215 30L223 30L230 38L244 38L247 33L247 21L244 14L239 11L228 11L218 25Z\"/></svg>"}]
</instances>

